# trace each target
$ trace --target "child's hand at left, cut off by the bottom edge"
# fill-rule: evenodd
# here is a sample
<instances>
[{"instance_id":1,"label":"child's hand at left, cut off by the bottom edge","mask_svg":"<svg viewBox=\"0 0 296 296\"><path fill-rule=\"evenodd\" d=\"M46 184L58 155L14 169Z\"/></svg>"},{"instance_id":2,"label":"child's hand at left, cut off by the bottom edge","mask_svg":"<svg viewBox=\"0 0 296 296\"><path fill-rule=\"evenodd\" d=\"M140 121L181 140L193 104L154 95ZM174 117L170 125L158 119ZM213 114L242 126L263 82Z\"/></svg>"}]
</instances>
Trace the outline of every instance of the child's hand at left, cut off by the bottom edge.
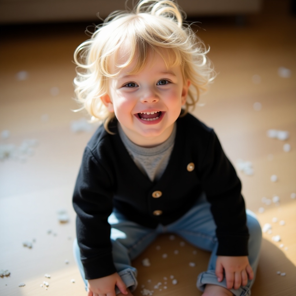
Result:
<instances>
[{"instance_id":1,"label":"child's hand at left, cut off by the bottom edge","mask_svg":"<svg viewBox=\"0 0 296 296\"><path fill-rule=\"evenodd\" d=\"M124 295L128 294L126 285L117 272L110 276L88 280L87 296L115 296L115 285Z\"/></svg>"}]
</instances>

